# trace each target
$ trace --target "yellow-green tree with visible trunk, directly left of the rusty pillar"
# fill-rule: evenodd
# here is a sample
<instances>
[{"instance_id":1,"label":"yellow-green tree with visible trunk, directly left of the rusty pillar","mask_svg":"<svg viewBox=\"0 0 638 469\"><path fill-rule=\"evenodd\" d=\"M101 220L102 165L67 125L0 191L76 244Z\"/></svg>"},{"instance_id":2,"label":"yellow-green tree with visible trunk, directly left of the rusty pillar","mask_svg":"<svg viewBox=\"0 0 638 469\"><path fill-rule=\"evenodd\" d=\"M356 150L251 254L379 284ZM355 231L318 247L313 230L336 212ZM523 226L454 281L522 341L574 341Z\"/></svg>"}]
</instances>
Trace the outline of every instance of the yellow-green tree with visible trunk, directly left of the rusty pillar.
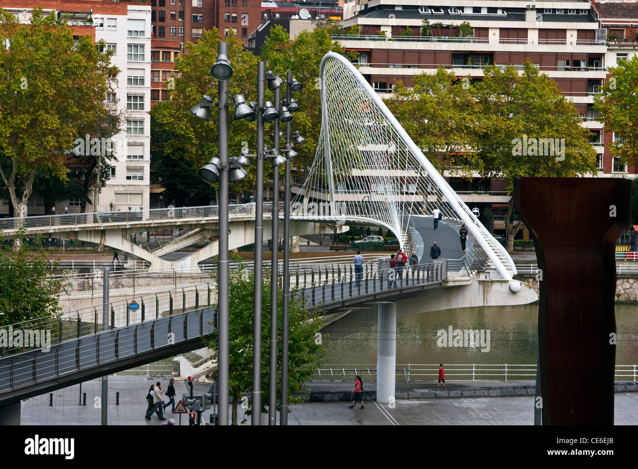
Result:
<instances>
[{"instance_id":1,"label":"yellow-green tree with visible trunk, directly left of the rusty pillar","mask_svg":"<svg viewBox=\"0 0 638 469\"><path fill-rule=\"evenodd\" d=\"M574 177L596 174L596 151L590 133L582 127L574 104L556 82L529 61L519 74L514 66L484 68L485 78L472 86L480 105L482 125L475 170L484 177L504 177L512 191L515 177ZM554 145L530 139L551 139ZM526 146L526 148L523 148ZM514 210L510 198L507 218ZM519 220L507 230L507 248L523 228Z\"/></svg>"}]
</instances>

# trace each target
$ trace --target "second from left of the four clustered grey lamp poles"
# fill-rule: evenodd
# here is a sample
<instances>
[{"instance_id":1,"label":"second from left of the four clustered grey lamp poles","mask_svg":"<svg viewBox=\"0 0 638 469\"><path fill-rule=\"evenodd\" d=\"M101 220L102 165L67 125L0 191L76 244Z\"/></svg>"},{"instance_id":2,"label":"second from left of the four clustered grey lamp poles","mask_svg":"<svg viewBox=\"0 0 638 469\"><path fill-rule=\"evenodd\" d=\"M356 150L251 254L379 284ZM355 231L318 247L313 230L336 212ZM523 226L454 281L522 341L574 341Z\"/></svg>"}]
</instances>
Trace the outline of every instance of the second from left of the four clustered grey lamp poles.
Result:
<instances>
[{"instance_id":1,"label":"second from left of the four clustered grey lamp poles","mask_svg":"<svg viewBox=\"0 0 638 469\"><path fill-rule=\"evenodd\" d=\"M253 311L253 415L262 423L262 288L263 288L263 84L266 63L257 63L257 181L255 184L255 309Z\"/></svg>"}]
</instances>

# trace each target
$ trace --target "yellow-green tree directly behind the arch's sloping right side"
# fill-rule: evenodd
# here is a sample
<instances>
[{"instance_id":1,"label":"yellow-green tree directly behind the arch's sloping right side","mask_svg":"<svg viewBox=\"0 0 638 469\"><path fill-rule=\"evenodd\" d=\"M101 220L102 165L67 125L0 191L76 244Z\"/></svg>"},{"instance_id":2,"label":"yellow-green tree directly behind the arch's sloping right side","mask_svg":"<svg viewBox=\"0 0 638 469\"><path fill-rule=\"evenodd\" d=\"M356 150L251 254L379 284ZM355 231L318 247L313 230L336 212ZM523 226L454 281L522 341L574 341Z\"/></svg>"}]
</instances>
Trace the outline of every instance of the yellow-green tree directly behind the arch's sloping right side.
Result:
<instances>
[{"instance_id":1,"label":"yellow-green tree directly behind the arch's sloping right side","mask_svg":"<svg viewBox=\"0 0 638 469\"><path fill-rule=\"evenodd\" d=\"M471 176L477 160L469 149L480 133L480 108L470 78L458 80L442 67L433 75L419 73L410 88L397 82L385 103L433 165L459 167L459 175Z\"/></svg>"}]
</instances>

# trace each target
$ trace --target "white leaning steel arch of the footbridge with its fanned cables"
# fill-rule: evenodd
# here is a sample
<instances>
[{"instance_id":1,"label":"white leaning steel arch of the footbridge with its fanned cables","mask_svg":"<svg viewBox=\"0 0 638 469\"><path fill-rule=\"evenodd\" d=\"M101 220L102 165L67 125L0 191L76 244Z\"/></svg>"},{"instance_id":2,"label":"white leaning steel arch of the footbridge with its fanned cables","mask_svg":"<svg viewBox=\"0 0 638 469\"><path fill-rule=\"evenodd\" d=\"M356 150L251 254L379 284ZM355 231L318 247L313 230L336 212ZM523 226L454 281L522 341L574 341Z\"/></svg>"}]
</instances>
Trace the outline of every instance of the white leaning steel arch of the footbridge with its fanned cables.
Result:
<instances>
[{"instance_id":1,"label":"white leaning steel arch of the footbridge with its fanned cables","mask_svg":"<svg viewBox=\"0 0 638 469\"><path fill-rule=\"evenodd\" d=\"M410 217L464 223L501 278L514 261L412 141L348 59L328 52L320 65L322 127L315 160L293 199L296 220L346 220L380 225L405 249ZM319 209L320 207L321 209ZM516 290L516 287L512 287Z\"/></svg>"}]
</instances>

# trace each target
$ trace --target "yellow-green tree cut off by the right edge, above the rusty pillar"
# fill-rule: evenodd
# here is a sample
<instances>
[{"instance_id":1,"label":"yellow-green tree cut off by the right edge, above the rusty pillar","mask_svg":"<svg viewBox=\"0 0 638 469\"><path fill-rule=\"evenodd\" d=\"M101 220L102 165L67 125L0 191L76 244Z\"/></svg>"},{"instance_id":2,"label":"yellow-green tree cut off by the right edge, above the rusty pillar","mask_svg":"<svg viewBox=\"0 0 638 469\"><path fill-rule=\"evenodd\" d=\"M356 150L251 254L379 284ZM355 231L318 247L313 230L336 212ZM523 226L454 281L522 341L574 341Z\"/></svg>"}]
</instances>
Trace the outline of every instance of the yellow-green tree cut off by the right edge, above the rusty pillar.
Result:
<instances>
[{"instance_id":1,"label":"yellow-green tree cut off by the right edge, above the rusty pillar","mask_svg":"<svg viewBox=\"0 0 638 469\"><path fill-rule=\"evenodd\" d=\"M594 100L600 110L598 120L605 124L605 131L620 137L609 147L611 155L621 163L638 165L638 57L610 67L609 73L612 76Z\"/></svg>"}]
</instances>

